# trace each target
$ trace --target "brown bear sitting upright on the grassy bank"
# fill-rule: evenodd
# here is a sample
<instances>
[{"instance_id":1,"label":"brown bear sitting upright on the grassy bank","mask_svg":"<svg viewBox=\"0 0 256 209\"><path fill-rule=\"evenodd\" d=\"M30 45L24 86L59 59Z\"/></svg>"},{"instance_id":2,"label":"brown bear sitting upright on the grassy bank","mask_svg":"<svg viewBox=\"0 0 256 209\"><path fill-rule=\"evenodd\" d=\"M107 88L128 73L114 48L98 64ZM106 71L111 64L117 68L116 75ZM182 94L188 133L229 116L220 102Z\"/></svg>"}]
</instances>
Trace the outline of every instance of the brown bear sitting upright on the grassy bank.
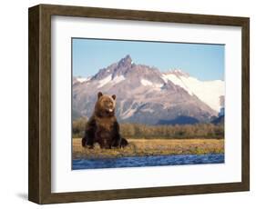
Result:
<instances>
[{"instance_id":1,"label":"brown bear sitting upright on the grassy bank","mask_svg":"<svg viewBox=\"0 0 256 209\"><path fill-rule=\"evenodd\" d=\"M85 136L82 138L84 147L92 149L95 143L106 149L128 145L128 141L120 135L115 108L116 95L97 94L94 113L87 122Z\"/></svg>"}]
</instances>

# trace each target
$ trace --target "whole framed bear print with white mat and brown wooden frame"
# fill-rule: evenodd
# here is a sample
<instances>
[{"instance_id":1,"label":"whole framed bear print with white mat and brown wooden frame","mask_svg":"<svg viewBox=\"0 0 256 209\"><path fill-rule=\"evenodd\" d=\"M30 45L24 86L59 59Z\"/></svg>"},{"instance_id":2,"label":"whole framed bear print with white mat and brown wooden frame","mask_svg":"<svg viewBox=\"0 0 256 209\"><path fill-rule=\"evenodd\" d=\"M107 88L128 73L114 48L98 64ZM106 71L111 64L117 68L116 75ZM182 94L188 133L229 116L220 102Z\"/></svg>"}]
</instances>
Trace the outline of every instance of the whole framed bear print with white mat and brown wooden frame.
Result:
<instances>
[{"instance_id":1,"label":"whole framed bear print with white mat and brown wooden frame","mask_svg":"<svg viewBox=\"0 0 256 209\"><path fill-rule=\"evenodd\" d=\"M28 199L250 189L249 18L29 8Z\"/></svg>"}]
</instances>

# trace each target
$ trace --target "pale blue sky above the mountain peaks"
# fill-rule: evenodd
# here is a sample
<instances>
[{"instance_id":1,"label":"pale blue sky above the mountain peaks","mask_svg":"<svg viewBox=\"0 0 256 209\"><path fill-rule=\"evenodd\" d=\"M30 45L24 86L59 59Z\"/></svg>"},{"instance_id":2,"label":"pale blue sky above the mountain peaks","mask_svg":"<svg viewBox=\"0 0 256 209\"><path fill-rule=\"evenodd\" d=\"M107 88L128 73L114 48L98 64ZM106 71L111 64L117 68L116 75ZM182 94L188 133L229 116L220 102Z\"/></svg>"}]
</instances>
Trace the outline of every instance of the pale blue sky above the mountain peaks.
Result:
<instances>
[{"instance_id":1,"label":"pale blue sky above the mountain peaks","mask_svg":"<svg viewBox=\"0 0 256 209\"><path fill-rule=\"evenodd\" d=\"M224 45L73 38L73 75L87 77L130 55L161 72L179 68L200 80L224 80Z\"/></svg>"}]
</instances>

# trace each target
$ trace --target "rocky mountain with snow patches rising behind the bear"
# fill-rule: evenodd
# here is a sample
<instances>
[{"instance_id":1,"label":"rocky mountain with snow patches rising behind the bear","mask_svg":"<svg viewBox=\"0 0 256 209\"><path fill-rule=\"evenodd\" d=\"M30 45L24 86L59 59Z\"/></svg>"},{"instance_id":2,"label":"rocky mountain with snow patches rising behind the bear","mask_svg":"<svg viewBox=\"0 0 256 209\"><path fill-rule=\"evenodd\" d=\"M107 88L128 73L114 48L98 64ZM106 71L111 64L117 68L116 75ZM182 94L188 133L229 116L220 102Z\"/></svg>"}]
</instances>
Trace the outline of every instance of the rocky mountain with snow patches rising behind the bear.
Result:
<instances>
[{"instance_id":1,"label":"rocky mountain with snow patches rising behind the bear","mask_svg":"<svg viewBox=\"0 0 256 209\"><path fill-rule=\"evenodd\" d=\"M121 122L193 124L218 115L223 81L200 81L181 70L161 73L127 55L89 78L73 78L73 113L89 117L97 92L117 95Z\"/></svg>"}]
</instances>

